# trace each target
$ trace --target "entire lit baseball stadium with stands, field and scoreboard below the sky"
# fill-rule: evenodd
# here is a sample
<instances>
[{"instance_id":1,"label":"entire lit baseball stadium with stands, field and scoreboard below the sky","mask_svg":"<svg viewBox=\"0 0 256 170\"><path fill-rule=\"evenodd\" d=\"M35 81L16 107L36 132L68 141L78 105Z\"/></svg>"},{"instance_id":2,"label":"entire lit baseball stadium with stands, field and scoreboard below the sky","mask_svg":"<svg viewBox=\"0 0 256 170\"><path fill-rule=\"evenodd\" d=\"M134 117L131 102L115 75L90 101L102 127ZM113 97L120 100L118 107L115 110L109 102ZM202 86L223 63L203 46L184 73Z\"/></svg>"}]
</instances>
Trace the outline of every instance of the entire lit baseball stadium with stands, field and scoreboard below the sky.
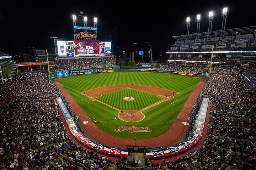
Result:
<instances>
[{"instance_id":1,"label":"entire lit baseball stadium with stands, field and scoreboard below the sky","mask_svg":"<svg viewBox=\"0 0 256 170\"><path fill-rule=\"evenodd\" d=\"M75 18L55 58L1 52L1 169L256 169L256 26L173 36L164 63L120 66Z\"/></svg>"}]
</instances>

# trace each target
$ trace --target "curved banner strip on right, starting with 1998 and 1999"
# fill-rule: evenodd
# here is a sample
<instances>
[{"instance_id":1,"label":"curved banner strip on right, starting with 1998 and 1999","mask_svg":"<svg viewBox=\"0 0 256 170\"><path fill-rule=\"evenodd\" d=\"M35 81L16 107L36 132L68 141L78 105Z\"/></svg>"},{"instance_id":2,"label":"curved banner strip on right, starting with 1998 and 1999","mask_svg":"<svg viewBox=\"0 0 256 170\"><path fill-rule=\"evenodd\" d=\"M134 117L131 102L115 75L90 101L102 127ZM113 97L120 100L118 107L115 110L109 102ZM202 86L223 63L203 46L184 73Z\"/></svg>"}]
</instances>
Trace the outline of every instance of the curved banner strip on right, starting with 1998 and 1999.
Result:
<instances>
[{"instance_id":1,"label":"curved banner strip on right, starting with 1998 and 1999","mask_svg":"<svg viewBox=\"0 0 256 170\"><path fill-rule=\"evenodd\" d=\"M181 154L184 151L186 152L187 149L191 149L196 146L203 135L203 128L206 119L208 104L209 98L203 98L198 117L195 121L190 136L173 146L145 150L146 156L149 158L149 160L161 159L160 157L164 157L163 159L166 159L168 157L172 157L172 155Z\"/></svg>"}]
</instances>

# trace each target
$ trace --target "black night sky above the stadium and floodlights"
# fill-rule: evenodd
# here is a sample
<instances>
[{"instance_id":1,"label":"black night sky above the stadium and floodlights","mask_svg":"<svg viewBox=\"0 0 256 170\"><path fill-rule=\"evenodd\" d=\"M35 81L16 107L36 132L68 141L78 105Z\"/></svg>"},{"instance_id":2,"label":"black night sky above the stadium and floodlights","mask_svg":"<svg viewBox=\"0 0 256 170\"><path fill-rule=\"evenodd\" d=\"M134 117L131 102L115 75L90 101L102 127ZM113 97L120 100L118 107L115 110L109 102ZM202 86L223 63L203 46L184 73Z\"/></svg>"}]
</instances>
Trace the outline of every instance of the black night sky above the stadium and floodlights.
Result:
<instances>
[{"instance_id":1,"label":"black night sky above the stadium and floodlights","mask_svg":"<svg viewBox=\"0 0 256 170\"><path fill-rule=\"evenodd\" d=\"M1 2L0 51L23 52L28 48L51 49L55 35L73 39L72 15L79 10L88 18L88 27L94 27L97 17L98 40L113 41L114 53L130 49L133 43L150 45L160 53L175 42L172 36L186 34L186 17L190 16L190 34L196 33L196 15L201 13L200 33L208 31L208 12L213 11L212 31L222 27L222 9L228 7L225 29L255 26L255 4L243 1L45 1ZM77 26L79 26L77 24ZM153 49L154 50L154 49ZM145 53L145 52L144 52Z\"/></svg>"}]
</instances>

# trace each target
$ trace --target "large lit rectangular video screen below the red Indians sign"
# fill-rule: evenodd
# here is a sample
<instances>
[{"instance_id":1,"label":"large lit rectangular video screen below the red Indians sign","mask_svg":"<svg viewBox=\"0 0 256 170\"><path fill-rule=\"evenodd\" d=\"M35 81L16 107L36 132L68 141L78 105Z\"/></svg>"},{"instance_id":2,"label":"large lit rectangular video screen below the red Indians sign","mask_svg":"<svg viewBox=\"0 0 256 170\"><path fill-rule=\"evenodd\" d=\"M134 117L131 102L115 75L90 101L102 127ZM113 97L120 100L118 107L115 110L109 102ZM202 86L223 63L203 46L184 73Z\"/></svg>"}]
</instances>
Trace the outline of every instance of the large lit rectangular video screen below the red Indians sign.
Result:
<instances>
[{"instance_id":1,"label":"large lit rectangular video screen below the red Indians sign","mask_svg":"<svg viewBox=\"0 0 256 170\"><path fill-rule=\"evenodd\" d=\"M57 40L59 57L111 56L111 41Z\"/></svg>"}]
</instances>

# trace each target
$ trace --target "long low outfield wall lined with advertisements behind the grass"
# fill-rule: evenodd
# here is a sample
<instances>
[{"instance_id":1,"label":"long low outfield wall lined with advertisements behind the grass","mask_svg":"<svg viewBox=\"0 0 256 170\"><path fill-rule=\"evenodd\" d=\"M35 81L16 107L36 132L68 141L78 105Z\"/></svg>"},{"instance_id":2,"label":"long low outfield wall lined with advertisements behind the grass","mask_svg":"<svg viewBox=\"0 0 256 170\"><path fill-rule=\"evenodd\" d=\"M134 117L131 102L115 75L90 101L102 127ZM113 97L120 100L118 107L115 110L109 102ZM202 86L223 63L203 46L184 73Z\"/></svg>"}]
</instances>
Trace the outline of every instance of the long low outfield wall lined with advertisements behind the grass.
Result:
<instances>
[{"instance_id":1,"label":"long low outfield wall lined with advertisements behind the grass","mask_svg":"<svg viewBox=\"0 0 256 170\"><path fill-rule=\"evenodd\" d=\"M209 78L210 74L198 74L198 73L188 73L188 72L178 72L171 70L151 70L151 69L120 69L119 66L113 67L98 67L98 68L85 68L85 69L73 69L73 70L62 70L58 72L50 72L49 78L63 78L74 75L85 75L85 74L97 74L97 73L110 73L110 72L144 72L144 73L169 73L177 75L185 75L188 77L200 77L200 78ZM212 74L211 74L212 76Z\"/></svg>"}]
</instances>

